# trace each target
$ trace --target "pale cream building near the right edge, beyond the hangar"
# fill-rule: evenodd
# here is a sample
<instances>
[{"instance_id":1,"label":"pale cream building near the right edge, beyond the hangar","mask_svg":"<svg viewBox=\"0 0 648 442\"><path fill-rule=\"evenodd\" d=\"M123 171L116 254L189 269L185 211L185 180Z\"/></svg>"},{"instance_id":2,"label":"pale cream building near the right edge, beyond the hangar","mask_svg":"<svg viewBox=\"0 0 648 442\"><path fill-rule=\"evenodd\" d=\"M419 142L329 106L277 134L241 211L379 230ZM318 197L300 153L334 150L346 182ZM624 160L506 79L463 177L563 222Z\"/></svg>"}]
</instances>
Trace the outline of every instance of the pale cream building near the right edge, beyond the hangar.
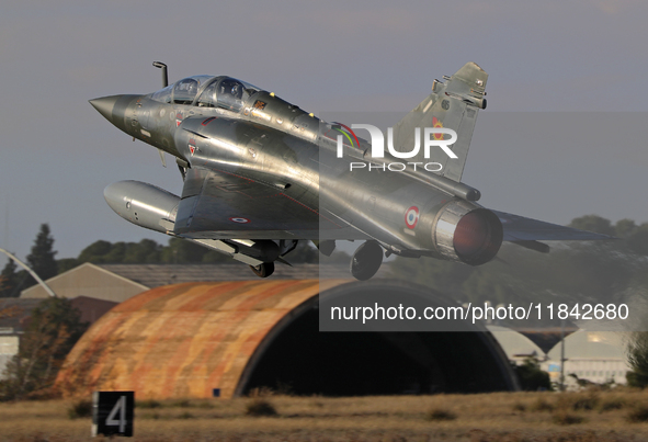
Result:
<instances>
[{"instance_id":1,"label":"pale cream building near the right edge, beyond the hangar","mask_svg":"<svg viewBox=\"0 0 648 442\"><path fill-rule=\"evenodd\" d=\"M565 385L569 388L578 386L577 381L569 376L575 374L579 379L596 384L614 379L625 384L625 374L630 370L625 353L625 336L616 331L579 330L565 338ZM560 342L549 352L549 360L543 364L549 372L552 382L560 377Z\"/></svg>"}]
</instances>

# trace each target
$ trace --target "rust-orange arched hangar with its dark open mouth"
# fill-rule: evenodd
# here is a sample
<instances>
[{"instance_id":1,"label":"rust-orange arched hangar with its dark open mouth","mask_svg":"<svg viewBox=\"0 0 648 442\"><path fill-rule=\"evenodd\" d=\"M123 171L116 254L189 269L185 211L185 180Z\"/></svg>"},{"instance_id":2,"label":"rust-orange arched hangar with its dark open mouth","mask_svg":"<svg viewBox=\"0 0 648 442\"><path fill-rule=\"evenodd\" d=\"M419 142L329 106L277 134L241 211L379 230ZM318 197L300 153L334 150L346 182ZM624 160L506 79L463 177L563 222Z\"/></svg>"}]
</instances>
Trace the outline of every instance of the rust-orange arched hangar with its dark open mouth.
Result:
<instances>
[{"instance_id":1,"label":"rust-orange arched hangar with its dark open mouth","mask_svg":"<svg viewBox=\"0 0 648 442\"><path fill-rule=\"evenodd\" d=\"M117 305L68 355L64 396L224 398L255 387L327 396L518 388L505 354L478 332L320 332L318 299L398 282L255 280L156 287Z\"/></svg>"}]
</instances>

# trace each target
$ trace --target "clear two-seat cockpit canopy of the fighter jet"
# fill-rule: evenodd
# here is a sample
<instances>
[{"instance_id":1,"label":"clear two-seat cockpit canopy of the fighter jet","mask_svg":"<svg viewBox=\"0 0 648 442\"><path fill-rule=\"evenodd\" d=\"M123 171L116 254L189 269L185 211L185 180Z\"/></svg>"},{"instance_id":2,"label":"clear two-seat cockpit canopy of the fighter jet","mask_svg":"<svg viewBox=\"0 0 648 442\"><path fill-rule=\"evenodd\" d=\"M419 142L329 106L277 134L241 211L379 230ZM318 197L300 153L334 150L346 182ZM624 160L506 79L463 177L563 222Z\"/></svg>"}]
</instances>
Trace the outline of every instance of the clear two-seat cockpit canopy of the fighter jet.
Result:
<instances>
[{"instance_id":1,"label":"clear two-seat cockpit canopy of the fighter jet","mask_svg":"<svg viewBox=\"0 0 648 442\"><path fill-rule=\"evenodd\" d=\"M245 101L261 89L231 77L195 76L169 84L151 94L162 103L223 107L239 112ZM197 97L197 98L196 98Z\"/></svg>"}]
</instances>

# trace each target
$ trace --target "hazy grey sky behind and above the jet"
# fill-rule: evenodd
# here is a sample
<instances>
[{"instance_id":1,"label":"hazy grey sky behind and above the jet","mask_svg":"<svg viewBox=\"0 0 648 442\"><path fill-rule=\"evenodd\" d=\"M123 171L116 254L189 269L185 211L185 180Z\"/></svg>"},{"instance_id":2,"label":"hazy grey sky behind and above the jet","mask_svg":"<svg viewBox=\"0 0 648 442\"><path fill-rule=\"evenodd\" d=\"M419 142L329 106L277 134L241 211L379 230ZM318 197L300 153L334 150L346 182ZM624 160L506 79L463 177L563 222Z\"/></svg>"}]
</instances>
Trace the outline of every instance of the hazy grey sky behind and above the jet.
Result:
<instances>
[{"instance_id":1,"label":"hazy grey sky behind and above the jet","mask_svg":"<svg viewBox=\"0 0 648 442\"><path fill-rule=\"evenodd\" d=\"M42 223L57 258L161 234L103 200L115 181L175 194L173 161L88 100L200 75L246 80L316 114L406 113L432 81L489 73L464 182L487 207L567 224L648 222L645 1L13 1L0 4L0 247ZM5 260L0 257L0 264Z\"/></svg>"}]
</instances>

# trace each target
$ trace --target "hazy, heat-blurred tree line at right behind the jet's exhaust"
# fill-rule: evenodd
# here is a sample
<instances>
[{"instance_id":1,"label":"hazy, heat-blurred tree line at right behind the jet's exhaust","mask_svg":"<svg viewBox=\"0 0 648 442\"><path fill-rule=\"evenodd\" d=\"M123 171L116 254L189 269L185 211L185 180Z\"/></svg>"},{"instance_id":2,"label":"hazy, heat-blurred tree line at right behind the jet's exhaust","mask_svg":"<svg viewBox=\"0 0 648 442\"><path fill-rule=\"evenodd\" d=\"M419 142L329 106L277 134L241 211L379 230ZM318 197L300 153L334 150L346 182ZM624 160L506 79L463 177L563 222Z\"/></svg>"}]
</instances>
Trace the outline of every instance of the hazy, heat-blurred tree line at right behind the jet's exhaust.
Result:
<instances>
[{"instance_id":1,"label":"hazy, heat-blurred tree line at right behind the jet's exhaust","mask_svg":"<svg viewBox=\"0 0 648 442\"><path fill-rule=\"evenodd\" d=\"M397 258L397 279L436 290L461 303L618 302L628 291L648 287L648 223L612 224L596 215L570 227L610 235L598 241L550 241L549 253L504 242L491 262L470 267L435 259Z\"/></svg>"}]
</instances>

